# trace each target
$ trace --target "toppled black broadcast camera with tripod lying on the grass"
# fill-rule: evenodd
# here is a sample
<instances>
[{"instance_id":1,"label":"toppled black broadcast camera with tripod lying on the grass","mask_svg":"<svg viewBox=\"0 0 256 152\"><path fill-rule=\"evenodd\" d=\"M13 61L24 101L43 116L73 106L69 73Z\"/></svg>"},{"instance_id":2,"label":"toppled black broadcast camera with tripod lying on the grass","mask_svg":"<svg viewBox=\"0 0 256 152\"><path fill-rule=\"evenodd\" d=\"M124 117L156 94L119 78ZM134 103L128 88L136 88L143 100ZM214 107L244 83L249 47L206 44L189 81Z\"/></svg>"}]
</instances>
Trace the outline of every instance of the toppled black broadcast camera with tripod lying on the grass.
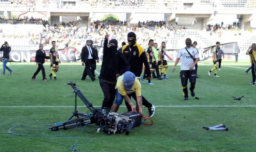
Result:
<instances>
[{"instance_id":1,"label":"toppled black broadcast camera with tripod lying on the grass","mask_svg":"<svg viewBox=\"0 0 256 152\"><path fill-rule=\"evenodd\" d=\"M77 89L75 83L70 81L68 82L68 85L70 85L75 92L75 111L73 112L73 115L68 119L68 121L63 123L56 123L54 126L49 127L49 130L68 130L74 127L95 123L95 125L99 126L97 132L103 131L107 134L126 132L127 135L131 131L132 127L140 126L141 115L139 113L127 112L123 114L117 114L109 112L109 109L94 108L92 103L90 103L84 97L82 92ZM77 111L77 95L90 110L88 113L81 113Z\"/></svg>"}]
</instances>

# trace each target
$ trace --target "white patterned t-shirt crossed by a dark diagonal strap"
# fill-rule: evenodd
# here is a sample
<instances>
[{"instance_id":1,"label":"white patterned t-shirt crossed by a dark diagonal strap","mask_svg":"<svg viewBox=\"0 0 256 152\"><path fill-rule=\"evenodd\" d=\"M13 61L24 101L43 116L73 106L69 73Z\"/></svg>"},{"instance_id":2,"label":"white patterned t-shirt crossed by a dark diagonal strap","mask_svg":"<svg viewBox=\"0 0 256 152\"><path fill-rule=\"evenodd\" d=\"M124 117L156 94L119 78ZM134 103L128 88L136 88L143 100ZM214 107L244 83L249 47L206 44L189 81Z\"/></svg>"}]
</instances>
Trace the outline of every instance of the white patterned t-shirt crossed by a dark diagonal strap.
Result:
<instances>
[{"instance_id":1,"label":"white patterned t-shirt crossed by a dark diagonal strap","mask_svg":"<svg viewBox=\"0 0 256 152\"><path fill-rule=\"evenodd\" d=\"M186 48L194 59L199 58L197 50L194 47L186 47ZM180 70L189 70L189 67L194 63L194 60L188 54L187 50L185 48L180 49L177 55L178 58L181 58ZM193 69L195 69L195 67Z\"/></svg>"}]
</instances>

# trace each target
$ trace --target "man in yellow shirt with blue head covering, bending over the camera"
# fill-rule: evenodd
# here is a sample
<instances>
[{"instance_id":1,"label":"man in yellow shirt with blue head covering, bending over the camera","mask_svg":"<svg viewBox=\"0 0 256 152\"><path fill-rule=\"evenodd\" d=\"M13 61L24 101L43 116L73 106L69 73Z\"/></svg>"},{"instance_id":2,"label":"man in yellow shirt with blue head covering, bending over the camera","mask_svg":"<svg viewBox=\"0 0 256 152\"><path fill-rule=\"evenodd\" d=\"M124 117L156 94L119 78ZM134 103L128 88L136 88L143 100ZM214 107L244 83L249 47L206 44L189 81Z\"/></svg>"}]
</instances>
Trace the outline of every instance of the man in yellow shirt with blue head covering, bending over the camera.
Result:
<instances>
[{"instance_id":1,"label":"man in yellow shirt with blue head covering, bending over the camera","mask_svg":"<svg viewBox=\"0 0 256 152\"><path fill-rule=\"evenodd\" d=\"M131 97L135 97L137 101L137 106L133 105ZM136 76L130 72L126 71L122 76L117 78L116 82L116 101L113 104L112 111L117 112L119 106L122 104L123 98L127 102L132 111L137 111L142 114L142 97L141 97L141 84Z\"/></svg>"}]
</instances>

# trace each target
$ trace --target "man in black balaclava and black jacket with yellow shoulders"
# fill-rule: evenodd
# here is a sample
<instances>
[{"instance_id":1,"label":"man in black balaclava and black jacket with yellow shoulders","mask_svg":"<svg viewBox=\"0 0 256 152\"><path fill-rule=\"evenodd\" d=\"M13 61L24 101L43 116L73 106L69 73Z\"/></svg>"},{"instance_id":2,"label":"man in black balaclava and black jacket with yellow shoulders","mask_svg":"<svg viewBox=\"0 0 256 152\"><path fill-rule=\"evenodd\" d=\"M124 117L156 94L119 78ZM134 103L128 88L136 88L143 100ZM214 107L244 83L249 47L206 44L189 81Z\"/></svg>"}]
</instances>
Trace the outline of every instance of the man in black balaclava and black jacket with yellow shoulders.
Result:
<instances>
[{"instance_id":1,"label":"man in black balaclava and black jacket with yellow shoulders","mask_svg":"<svg viewBox=\"0 0 256 152\"><path fill-rule=\"evenodd\" d=\"M133 32L128 33L127 41L129 44L124 45L122 47L122 53L125 55L126 59L130 64L130 71L136 76L136 78L140 79L140 75L142 73L142 68L144 64L147 76L150 76L151 73L149 69L146 52L142 46L136 43L136 34ZM147 79L150 78L151 77L148 77ZM152 117L155 114L155 106L148 102L143 96L142 105L148 108L149 117ZM129 105L126 104L126 107L129 111L131 111L131 107Z\"/></svg>"}]
</instances>

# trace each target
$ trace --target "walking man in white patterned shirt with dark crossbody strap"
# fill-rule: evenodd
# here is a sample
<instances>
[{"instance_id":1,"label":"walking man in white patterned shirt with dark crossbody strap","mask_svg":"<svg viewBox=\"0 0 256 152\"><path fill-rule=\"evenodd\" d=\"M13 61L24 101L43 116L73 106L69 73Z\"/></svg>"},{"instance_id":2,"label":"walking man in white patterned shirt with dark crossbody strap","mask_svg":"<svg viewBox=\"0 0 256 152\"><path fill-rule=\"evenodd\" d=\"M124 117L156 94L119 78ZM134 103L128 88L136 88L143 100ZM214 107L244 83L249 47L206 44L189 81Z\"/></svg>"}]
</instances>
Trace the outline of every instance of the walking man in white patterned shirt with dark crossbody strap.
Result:
<instances>
[{"instance_id":1,"label":"walking man in white patterned shirt with dark crossbody strap","mask_svg":"<svg viewBox=\"0 0 256 152\"><path fill-rule=\"evenodd\" d=\"M195 65L197 64L199 60L199 55L197 50L194 47L191 47L191 39L186 39L186 47L183 49L180 49L177 59L175 61L174 67L172 71L174 72L176 69L177 64L181 59L181 66L180 66L180 78L181 78L181 85L184 95L184 100L188 100L188 79L190 82L189 90L191 92L191 96L195 97L195 85L196 85L196 70Z\"/></svg>"}]
</instances>

